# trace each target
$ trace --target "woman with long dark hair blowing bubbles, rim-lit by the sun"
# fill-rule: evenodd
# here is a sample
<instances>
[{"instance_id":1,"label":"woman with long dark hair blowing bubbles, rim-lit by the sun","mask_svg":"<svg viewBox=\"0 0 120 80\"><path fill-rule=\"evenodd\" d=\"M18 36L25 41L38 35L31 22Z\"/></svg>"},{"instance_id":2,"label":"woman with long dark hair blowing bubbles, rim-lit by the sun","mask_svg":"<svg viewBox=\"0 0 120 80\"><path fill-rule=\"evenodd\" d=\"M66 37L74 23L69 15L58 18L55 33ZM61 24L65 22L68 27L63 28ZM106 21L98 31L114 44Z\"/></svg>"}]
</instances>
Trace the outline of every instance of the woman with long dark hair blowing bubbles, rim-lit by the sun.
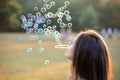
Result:
<instances>
[{"instance_id":1,"label":"woman with long dark hair blowing bubbles, rim-lit by the sun","mask_svg":"<svg viewBox=\"0 0 120 80\"><path fill-rule=\"evenodd\" d=\"M80 32L65 56L72 60L68 80L111 80L110 53L96 31Z\"/></svg>"}]
</instances>

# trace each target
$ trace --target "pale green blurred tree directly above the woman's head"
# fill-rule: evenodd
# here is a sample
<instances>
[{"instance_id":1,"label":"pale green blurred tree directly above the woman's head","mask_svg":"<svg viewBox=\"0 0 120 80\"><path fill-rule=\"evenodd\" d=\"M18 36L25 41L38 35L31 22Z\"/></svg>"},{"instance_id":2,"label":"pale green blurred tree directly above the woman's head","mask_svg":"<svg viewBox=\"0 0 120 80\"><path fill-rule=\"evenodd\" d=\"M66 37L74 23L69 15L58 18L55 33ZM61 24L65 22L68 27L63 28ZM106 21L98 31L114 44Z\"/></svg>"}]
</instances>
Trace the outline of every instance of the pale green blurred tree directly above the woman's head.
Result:
<instances>
[{"instance_id":1,"label":"pale green blurred tree directly above the woman's head","mask_svg":"<svg viewBox=\"0 0 120 80\"><path fill-rule=\"evenodd\" d=\"M92 6L87 6L81 10L81 15L79 17L79 25L83 28L98 28L96 27L98 23L97 12Z\"/></svg>"}]
</instances>

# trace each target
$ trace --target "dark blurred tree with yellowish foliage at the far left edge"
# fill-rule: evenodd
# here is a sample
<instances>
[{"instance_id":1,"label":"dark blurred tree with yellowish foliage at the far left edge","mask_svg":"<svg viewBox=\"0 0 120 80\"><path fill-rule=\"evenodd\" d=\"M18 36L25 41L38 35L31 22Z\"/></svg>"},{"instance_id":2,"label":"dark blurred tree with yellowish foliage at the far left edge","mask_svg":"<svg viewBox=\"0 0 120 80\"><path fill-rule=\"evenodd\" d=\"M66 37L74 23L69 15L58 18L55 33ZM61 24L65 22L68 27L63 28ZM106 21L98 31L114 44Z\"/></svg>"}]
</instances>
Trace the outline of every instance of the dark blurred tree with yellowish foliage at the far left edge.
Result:
<instances>
[{"instance_id":1,"label":"dark blurred tree with yellowish foliage at the far left edge","mask_svg":"<svg viewBox=\"0 0 120 80\"><path fill-rule=\"evenodd\" d=\"M20 5L15 0L0 0L0 31L18 28Z\"/></svg>"}]
</instances>

